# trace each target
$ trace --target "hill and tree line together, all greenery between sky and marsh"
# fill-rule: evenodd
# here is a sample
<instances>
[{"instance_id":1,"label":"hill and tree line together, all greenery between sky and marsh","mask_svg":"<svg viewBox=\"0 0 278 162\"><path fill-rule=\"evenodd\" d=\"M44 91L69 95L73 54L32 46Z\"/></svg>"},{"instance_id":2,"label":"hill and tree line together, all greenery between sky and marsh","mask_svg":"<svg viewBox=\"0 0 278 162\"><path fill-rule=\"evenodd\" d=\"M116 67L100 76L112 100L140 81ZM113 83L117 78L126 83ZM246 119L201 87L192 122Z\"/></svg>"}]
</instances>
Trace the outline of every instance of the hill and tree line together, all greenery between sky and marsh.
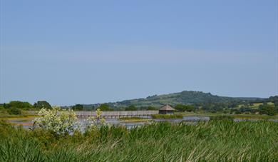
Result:
<instances>
[{"instance_id":1,"label":"hill and tree line together, all greenery between sky and marsh","mask_svg":"<svg viewBox=\"0 0 278 162\"><path fill-rule=\"evenodd\" d=\"M167 95L154 95L147 98L126 100L116 103L103 103L96 105L76 104L63 108L72 108L75 111L90 111L100 108L101 111L136 111L136 110L158 110L160 106L169 103L179 112L204 112L204 113L230 113L230 114L267 114L278 113L278 96L269 98L232 98L215 96L211 93L199 91L182 91ZM51 108L47 101L38 101L32 106L28 102L11 101L0 104L1 110L9 108L19 108L21 111L40 110L41 108ZM12 111L9 111L11 113Z\"/></svg>"}]
</instances>

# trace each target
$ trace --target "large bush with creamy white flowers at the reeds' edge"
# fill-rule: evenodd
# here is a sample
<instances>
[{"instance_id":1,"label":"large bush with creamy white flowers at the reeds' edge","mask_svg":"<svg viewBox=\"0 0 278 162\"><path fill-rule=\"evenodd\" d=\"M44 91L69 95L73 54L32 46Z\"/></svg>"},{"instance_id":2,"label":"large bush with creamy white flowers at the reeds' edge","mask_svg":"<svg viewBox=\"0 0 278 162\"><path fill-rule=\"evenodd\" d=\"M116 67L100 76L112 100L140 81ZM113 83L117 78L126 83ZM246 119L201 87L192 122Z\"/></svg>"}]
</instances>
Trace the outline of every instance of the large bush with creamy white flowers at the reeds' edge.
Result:
<instances>
[{"instance_id":1,"label":"large bush with creamy white flowers at the reeds' edge","mask_svg":"<svg viewBox=\"0 0 278 162\"><path fill-rule=\"evenodd\" d=\"M42 108L38 112L38 116L40 117L34 119L38 127L58 134L73 132L77 121L76 113L73 110L62 110L58 106L53 106L48 110Z\"/></svg>"}]
</instances>

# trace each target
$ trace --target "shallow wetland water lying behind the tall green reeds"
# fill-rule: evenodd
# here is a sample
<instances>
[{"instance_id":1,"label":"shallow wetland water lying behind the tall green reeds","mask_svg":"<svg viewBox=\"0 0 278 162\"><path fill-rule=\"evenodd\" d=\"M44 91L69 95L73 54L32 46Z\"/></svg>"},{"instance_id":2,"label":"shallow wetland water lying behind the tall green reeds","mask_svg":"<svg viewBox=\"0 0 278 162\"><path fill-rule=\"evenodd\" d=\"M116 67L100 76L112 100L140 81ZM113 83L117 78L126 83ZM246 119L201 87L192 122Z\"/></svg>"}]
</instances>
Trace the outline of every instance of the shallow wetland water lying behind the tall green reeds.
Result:
<instances>
[{"instance_id":1,"label":"shallow wetland water lying behind the tall green reeds","mask_svg":"<svg viewBox=\"0 0 278 162\"><path fill-rule=\"evenodd\" d=\"M33 126L33 120L34 117L30 118L11 118L8 120L9 123L11 123L14 126L23 126L24 128L31 128ZM181 121L185 122L197 122L197 121L210 121L209 116L184 116L183 118L177 118L177 119L151 119L150 121L120 121L118 118L106 118L105 119L107 123L114 125L114 126L126 126L127 128L133 128L135 126L143 126L147 123L150 123L152 121L169 121L172 123L178 123ZM235 121L259 121L258 118L235 118ZM78 118L78 121L85 122L86 120ZM269 121L278 122L278 119L269 119Z\"/></svg>"}]
</instances>

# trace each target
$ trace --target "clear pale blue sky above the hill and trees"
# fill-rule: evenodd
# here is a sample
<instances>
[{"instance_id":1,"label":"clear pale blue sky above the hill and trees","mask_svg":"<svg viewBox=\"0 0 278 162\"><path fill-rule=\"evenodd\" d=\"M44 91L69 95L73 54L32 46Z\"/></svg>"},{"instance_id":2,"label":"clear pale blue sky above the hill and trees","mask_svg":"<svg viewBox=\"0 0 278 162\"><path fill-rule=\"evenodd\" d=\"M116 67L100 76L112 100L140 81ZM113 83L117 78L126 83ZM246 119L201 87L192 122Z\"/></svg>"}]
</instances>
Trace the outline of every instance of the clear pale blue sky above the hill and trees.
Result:
<instances>
[{"instance_id":1,"label":"clear pale blue sky above the hill and trees","mask_svg":"<svg viewBox=\"0 0 278 162\"><path fill-rule=\"evenodd\" d=\"M0 102L278 93L277 0L1 0Z\"/></svg>"}]
</instances>

